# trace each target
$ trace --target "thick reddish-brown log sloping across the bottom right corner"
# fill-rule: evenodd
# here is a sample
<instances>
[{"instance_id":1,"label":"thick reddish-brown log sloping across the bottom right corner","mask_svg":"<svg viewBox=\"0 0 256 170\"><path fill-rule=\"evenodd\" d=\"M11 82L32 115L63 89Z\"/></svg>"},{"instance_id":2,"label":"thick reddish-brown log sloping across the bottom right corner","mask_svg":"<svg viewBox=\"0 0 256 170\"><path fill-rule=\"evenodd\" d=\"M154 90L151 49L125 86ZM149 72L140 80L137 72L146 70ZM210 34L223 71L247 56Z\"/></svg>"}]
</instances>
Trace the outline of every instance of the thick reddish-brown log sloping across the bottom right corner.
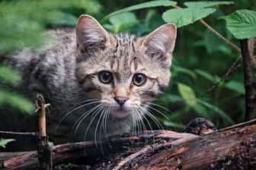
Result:
<instances>
[{"instance_id":1,"label":"thick reddish-brown log sloping across the bottom right corner","mask_svg":"<svg viewBox=\"0 0 256 170\"><path fill-rule=\"evenodd\" d=\"M179 144L136 169L256 169L256 120Z\"/></svg>"}]
</instances>

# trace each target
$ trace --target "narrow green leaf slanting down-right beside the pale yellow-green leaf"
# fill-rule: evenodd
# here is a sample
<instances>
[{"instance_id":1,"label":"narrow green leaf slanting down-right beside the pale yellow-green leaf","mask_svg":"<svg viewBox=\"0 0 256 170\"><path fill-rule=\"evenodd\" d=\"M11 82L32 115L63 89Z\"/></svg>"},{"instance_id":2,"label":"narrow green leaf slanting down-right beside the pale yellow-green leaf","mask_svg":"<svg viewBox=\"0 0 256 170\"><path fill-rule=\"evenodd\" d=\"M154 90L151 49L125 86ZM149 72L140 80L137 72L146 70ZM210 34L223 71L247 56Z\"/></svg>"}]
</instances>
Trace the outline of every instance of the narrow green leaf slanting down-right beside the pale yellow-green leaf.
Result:
<instances>
[{"instance_id":1,"label":"narrow green leaf slanting down-right beside the pale yellow-green leaf","mask_svg":"<svg viewBox=\"0 0 256 170\"><path fill-rule=\"evenodd\" d=\"M216 105L212 105L209 102L203 101L202 99L197 99L197 102L200 105L203 105L208 109L211 109L213 112L216 112L224 121L227 121L229 124L235 124L232 118L230 118L229 115L226 114L226 112L223 112Z\"/></svg>"}]
</instances>

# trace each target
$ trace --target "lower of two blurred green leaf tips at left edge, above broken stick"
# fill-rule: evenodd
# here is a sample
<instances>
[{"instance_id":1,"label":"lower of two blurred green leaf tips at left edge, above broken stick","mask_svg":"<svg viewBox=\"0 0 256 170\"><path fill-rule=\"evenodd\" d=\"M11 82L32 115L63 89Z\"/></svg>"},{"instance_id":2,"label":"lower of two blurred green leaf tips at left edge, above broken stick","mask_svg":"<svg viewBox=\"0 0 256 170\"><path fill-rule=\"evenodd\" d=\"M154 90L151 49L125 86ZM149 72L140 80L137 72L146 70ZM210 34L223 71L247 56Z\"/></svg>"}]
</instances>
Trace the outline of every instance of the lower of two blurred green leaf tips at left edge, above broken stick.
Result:
<instances>
[{"instance_id":1,"label":"lower of two blurred green leaf tips at left edge, above broken stick","mask_svg":"<svg viewBox=\"0 0 256 170\"><path fill-rule=\"evenodd\" d=\"M0 105L11 105L28 115L34 113L34 105L32 102L15 93L8 92L7 90L0 89Z\"/></svg>"}]
</instances>

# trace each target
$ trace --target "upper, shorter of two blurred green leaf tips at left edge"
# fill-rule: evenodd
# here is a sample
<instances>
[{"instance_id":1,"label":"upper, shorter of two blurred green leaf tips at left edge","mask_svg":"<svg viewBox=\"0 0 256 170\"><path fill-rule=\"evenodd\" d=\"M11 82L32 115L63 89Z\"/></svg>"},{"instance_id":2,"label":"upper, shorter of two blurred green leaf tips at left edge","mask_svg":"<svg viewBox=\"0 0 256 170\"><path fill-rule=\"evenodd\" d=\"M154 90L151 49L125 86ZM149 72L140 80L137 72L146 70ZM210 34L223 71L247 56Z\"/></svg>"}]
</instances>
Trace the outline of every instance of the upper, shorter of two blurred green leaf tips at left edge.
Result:
<instances>
[{"instance_id":1,"label":"upper, shorter of two blurred green leaf tips at left edge","mask_svg":"<svg viewBox=\"0 0 256 170\"><path fill-rule=\"evenodd\" d=\"M4 65L0 65L0 81L15 86L21 81L21 76L17 71L14 71Z\"/></svg>"}]
</instances>

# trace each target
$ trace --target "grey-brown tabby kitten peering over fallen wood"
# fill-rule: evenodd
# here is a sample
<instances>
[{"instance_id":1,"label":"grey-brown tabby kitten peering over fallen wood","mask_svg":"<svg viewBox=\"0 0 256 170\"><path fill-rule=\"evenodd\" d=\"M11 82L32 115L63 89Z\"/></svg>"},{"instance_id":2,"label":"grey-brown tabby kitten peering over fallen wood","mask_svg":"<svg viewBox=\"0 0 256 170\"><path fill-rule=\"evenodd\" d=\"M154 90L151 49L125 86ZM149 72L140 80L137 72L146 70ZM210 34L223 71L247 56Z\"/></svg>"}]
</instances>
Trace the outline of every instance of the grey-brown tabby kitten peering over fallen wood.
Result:
<instances>
[{"instance_id":1,"label":"grey-brown tabby kitten peering over fallen wood","mask_svg":"<svg viewBox=\"0 0 256 170\"><path fill-rule=\"evenodd\" d=\"M150 114L149 102L168 86L174 24L137 38L107 33L93 17L82 15L76 35L67 29L48 33L55 39L51 45L24 49L5 62L22 74L19 91L31 99L40 92L50 102L47 134L54 143L134 131ZM18 119L13 128L35 131L30 118L21 116L11 118ZM10 121L6 117L2 122ZM6 129L3 124L0 129Z\"/></svg>"}]
</instances>

